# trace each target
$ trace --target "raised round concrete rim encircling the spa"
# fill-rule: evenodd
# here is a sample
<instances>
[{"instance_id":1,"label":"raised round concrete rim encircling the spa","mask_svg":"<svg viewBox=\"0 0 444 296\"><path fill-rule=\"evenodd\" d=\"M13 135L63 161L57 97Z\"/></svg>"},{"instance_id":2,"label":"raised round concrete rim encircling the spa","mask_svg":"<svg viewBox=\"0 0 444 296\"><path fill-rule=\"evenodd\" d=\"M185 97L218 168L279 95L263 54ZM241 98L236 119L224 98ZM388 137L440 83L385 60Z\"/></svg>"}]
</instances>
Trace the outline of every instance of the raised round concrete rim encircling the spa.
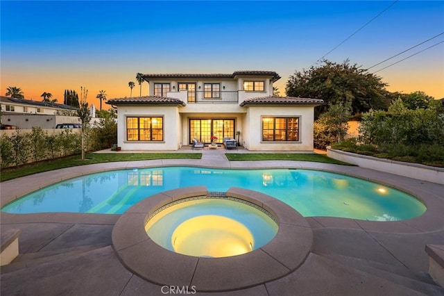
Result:
<instances>
[{"instance_id":1,"label":"raised round concrete rim encircling the spa","mask_svg":"<svg viewBox=\"0 0 444 296\"><path fill-rule=\"evenodd\" d=\"M121 263L160 286L194 286L200 292L221 292L285 277L311 252L313 233L300 213L274 197L243 188L230 188L226 195L256 204L278 221L278 233L268 244L237 256L203 258L171 252L149 238L145 224L158 208L207 194L205 186L180 188L153 195L129 208L112 231L113 249Z\"/></svg>"}]
</instances>

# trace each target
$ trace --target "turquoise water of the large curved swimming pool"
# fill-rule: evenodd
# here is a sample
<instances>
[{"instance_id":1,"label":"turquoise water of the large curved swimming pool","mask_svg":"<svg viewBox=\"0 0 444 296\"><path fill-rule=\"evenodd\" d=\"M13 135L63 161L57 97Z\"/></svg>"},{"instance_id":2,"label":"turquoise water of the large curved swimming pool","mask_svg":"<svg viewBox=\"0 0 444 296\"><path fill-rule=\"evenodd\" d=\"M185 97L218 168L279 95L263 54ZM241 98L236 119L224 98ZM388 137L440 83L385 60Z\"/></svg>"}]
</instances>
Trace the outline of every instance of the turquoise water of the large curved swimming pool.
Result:
<instances>
[{"instance_id":1,"label":"turquoise water of the large curved swimming pool","mask_svg":"<svg viewBox=\"0 0 444 296\"><path fill-rule=\"evenodd\" d=\"M206 186L212 192L231 187L256 190L280 199L305 217L395 221L418 217L426 210L418 199L400 190L330 172L155 167L69 179L17 199L1 211L121 214L146 197L189 186Z\"/></svg>"}]
</instances>

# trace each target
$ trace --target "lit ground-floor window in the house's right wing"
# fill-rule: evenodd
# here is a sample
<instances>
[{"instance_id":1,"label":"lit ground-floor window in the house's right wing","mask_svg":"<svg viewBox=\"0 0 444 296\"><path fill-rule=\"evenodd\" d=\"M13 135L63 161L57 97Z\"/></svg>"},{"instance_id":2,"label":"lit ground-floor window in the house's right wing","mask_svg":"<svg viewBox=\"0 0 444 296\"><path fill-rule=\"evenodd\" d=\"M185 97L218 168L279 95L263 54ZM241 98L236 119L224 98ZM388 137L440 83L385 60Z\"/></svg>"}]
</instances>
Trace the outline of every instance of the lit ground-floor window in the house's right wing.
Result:
<instances>
[{"instance_id":1,"label":"lit ground-floor window in the house's right wing","mask_svg":"<svg viewBox=\"0 0 444 296\"><path fill-rule=\"evenodd\" d=\"M262 141L298 141L299 117L262 117Z\"/></svg>"}]
</instances>

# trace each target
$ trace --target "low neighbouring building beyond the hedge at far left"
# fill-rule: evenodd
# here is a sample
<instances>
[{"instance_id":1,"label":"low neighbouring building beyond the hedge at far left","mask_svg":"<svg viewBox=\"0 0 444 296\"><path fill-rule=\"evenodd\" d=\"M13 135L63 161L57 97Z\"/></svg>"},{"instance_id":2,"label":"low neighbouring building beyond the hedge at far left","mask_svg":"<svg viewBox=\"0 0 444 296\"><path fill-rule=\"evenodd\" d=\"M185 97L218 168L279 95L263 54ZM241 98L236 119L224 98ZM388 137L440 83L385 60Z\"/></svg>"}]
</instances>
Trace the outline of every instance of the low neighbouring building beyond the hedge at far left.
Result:
<instances>
[{"instance_id":1,"label":"low neighbouring building beyond the hedge at far left","mask_svg":"<svg viewBox=\"0 0 444 296\"><path fill-rule=\"evenodd\" d=\"M1 129L54 129L57 124L78 123L78 108L44 101L0 96Z\"/></svg>"}]
</instances>

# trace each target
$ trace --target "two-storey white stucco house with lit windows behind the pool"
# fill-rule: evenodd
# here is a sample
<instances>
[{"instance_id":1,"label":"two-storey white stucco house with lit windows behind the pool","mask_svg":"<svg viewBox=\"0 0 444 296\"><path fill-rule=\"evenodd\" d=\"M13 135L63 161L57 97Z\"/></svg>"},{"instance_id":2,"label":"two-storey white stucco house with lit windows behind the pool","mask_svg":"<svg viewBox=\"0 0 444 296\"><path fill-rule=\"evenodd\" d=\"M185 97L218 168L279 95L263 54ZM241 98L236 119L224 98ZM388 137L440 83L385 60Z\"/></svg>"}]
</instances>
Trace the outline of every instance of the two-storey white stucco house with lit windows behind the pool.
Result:
<instances>
[{"instance_id":1,"label":"two-storey white stucco house with lit windows behind the pool","mask_svg":"<svg viewBox=\"0 0 444 296\"><path fill-rule=\"evenodd\" d=\"M196 138L238 140L249 150L313 150L314 107L321 99L273 96L271 71L144 74L147 97L108 99L117 106L123 150L177 150Z\"/></svg>"}]
</instances>

